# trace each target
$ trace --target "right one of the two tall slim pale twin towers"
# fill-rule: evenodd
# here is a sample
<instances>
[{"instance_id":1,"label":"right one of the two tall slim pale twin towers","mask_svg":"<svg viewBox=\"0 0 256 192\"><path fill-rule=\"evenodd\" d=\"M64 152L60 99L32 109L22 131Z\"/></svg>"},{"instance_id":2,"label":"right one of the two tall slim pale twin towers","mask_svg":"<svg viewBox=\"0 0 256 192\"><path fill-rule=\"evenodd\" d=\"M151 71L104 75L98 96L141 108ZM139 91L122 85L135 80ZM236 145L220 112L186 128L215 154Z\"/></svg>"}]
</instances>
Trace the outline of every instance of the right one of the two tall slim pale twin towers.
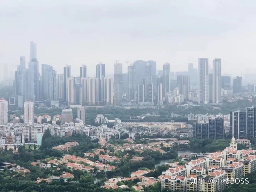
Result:
<instances>
[{"instance_id":1,"label":"right one of the two tall slim pale twin towers","mask_svg":"<svg viewBox=\"0 0 256 192\"><path fill-rule=\"evenodd\" d=\"M222 87L222 71L221 71L221 59L213 60L213 103L221 102L221 87Z\"/></svg>"}]
</instances>

